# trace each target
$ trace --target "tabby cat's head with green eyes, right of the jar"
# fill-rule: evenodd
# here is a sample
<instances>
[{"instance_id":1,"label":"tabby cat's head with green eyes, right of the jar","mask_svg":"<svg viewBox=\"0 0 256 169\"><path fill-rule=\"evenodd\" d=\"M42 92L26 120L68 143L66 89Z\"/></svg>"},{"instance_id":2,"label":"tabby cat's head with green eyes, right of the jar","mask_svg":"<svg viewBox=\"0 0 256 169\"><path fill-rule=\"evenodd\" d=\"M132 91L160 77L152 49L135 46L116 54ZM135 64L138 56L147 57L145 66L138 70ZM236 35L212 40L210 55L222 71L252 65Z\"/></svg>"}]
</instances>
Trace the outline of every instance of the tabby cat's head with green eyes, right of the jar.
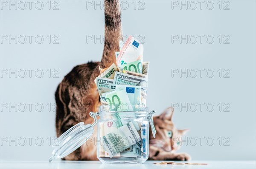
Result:
<instances>
[{"instance_id":1,"label":"tabby cat's head with green eyes, right of the jar","mask_svg":"<svg viewBox=\"0 0 256 169\"><path fill-rule=\"evenodd\" d=\"M181 137L189 131L189 129L178 130L172 122L174 109L167 108L161 115L154 116L154 127L157 131L154 138L150 134L149 144L166 152L175 152L180 149ZM151 132L150 132L151 133Z\"/></svg>"}]
</instances>

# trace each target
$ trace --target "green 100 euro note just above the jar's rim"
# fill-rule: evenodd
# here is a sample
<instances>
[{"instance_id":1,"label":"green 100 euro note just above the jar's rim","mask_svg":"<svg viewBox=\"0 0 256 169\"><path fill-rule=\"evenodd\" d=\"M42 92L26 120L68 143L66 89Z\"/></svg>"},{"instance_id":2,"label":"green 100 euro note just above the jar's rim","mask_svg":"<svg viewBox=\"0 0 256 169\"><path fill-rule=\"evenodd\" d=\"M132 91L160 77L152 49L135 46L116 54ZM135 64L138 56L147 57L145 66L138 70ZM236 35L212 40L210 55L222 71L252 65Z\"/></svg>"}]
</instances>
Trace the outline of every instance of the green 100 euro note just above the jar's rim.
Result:
<instances>
[{"instance_id":1,"label":"green 100 euro note just above the jar's rim","mask_svg":"<svg viewBox=\"0 0 256 169\"><path fill-rule=\"evenodd\" d=\"M105 95L105 100L110 105L116 105L117 111L133 111L133 107L126 90L113 91Z\"/></svg>"}]
</instances>

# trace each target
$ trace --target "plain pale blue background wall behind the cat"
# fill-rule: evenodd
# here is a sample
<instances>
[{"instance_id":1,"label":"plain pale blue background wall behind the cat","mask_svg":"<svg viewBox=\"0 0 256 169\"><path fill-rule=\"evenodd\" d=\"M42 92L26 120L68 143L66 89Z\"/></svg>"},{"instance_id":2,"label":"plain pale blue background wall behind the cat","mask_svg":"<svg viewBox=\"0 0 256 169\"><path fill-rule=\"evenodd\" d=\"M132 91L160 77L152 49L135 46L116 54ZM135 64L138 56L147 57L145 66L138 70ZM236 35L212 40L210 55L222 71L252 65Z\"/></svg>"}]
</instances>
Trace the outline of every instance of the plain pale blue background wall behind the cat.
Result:
<instances>
[{"instance_id":1,"label":"plain pale blue background wall behind the cat","mask_svg":"<svg viewBox=\"0 0 256 169\"><path fill-rule=\"evenodd\" d=\"M44 37L42 44L35 41L32 44L15 44L14 41L0 44L2 70L42 69L44 72L42 78L35 74L32 78L28 74L24 78L14 75L9 78L8 74L1 77L2 104L34 103L31 112L28 106L24 112L1 110L1 138L25 137L27 141L24 146L20 145L23 141L20 144L16 141L17 145L1 141L1 160L45 161L49 158L52 148L47 138L55 136L52 104L58 83L74 66L90 60L99 61L102 56L103 42L87 43L86 37L104 35L103 9L97 7L95 10L90 6L86 9L88 2L82 0L61 0L58 1L59 10L49 10L47 2L43 1L42 10L33 5L31 10L28 7L0 10L1 35ZM205 139L202 145L197 139L195 146L182 145L178 152L189 153L193 160L255 160L255 1L230 0L230 10L219 10L218 1L212 1L215 5L212 10L205 7L207 1L202 10L199 7L195 10L174 7L172 10L172 1L167 0L137 1L134 10L134 1L126 2L129 7L122 10L123 33L140 36L139 40L144 38L144 61L150 61L147 99L150 109L159 114L172 103L212 103L215 106L212 112L205 106L202 112L199 107L195 112L175 109L176 127L191 129L186 135L188 139L212 137L215 141L209 146ZM142 5L144 10L138 10ZM59 44L49 44L48 35L58 35ZM202 44L172 43L172 35L212 35L215 41L212 44L205 40ZM229 35L230 44L219 44L219 35ZM59 78L52 78L53 74L49 78L48 69L58 69ZM202 78L199 75L180 78L179 75L172 77L172 69L212 69L215 74L212 78L205 74ZM230 78L219 78L219 69L229 69ZM35 110L36 103L44 105L43 111ZM51 111L47 107L49 103ZM230 104L230 112L219 111L219 103ZM34 137L31 146L27 137ZM41 146L35 144L38 137L44 139ZM219 137L222 138L221 146ZM230 146L223 145L224 137L230 138ZM38 142L40 144L40 140Z\"/></svg>"}]
</instances>

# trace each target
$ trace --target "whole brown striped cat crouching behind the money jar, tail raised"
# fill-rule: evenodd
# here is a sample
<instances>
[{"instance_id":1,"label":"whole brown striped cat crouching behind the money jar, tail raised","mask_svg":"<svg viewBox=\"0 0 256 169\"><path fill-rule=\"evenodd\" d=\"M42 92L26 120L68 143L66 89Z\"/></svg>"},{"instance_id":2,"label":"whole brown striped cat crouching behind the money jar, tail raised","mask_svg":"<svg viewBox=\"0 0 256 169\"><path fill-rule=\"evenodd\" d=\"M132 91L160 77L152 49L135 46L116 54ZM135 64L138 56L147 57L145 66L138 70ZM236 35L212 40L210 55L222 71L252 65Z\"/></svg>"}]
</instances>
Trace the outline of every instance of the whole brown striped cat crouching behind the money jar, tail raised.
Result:
<instances>
[{"instance_id":1,"label":"whole brown striped cat crouching behind the money jar, tail raised","mask_svg":"<svg viewBox=\"0 0 256 169\"><path fill-rule=\"evenodd\" d=\"M90 117L91 111L98 111L95 107L99 107L101 102L99 99L99 93L94 82L94 79L99 76L99 67L108 68L112 63L116 62L115 52L119 51L119 40L122 37L122 25L121 25L121 10L119 0L105 0L105 42L103 55L100 62L88 62L87 64L78 65L68 73L62 82L58 85L55 92L56 101L56 118L55 128L56 134L59 137L65 131L70 129L79 122L84 124L92 124L93 118ZM166 113L167 116L167 111ZM170 119L164 120L164 114L155 118L155 126L157 130L156 138L150 136L152 149L150 150L150 159L162 160L162 159L180 159L188 160L188 155L171 155L173 154L169 147L164 149L163 147L157 147L157 144L152 142L152 139L161 143L166 143L169 146L171 138L160 135L165 130L172 130L174 134L181 135L180 130L176 130ZM160 118L162 117L162 118ZM161 121L162 120L162 121ZM165 127L160 128L160 124L165 123ZM169 126L169 128L167 128ZM92 135L96 137L97 128ZM155 147L153 149L153 147ZM98 160L96 157L96 145L93 142L83 144L76 149L70 155L64 157L64 160ZM157 154L157 152L159 152ZM160 155L161 153L161 155ZM164 156L166 155L166 158ZM183 158L180 158L183 156ZM172 158L173 157L173 158Z\"/></svg>"}]
</instances>

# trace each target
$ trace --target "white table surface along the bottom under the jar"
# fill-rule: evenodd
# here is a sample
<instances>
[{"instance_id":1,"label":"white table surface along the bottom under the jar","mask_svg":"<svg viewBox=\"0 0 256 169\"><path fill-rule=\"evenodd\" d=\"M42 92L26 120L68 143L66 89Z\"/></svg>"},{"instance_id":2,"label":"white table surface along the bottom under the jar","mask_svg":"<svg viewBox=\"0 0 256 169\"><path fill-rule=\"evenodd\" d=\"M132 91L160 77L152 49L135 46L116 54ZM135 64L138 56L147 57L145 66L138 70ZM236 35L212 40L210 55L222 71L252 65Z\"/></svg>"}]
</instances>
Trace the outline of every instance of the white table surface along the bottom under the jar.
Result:
<instances>
[{"instance_id":1,"label":"white table surface along the bottom under the jar","mask_svg":"<svg viewBox=\"0 0 256 169\"><path fill-rule=\"evenodd\" d=\"M1 169L255 169L256 161L189 161L208 165L109 164L100 161L0 161ZM177 161L178 162L178 161ZM182 161L181 161L182 163Z\"/></svg>"}]
</instances>

